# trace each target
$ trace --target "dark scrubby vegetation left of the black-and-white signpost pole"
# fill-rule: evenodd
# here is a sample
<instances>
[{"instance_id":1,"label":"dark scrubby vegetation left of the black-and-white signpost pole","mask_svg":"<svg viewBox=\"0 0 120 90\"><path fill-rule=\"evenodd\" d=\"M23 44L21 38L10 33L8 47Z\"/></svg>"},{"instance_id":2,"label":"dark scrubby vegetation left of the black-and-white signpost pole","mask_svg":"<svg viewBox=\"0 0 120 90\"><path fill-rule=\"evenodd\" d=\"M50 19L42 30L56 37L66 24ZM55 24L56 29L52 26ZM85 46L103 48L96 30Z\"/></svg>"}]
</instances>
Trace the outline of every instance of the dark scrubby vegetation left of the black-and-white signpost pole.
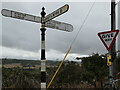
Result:
<instances>
[{"instance_id":1,"label":"dark scrubby vegetation left of the black-and-white signpost pole","mask_svg":"<svg viewBox=\"0 0 120 90\"><path fill-rule=\"evenodd\" d=\"M40 88L40 71L21 68L3 68L3 88Z\"/></svg>"}]
</instances>

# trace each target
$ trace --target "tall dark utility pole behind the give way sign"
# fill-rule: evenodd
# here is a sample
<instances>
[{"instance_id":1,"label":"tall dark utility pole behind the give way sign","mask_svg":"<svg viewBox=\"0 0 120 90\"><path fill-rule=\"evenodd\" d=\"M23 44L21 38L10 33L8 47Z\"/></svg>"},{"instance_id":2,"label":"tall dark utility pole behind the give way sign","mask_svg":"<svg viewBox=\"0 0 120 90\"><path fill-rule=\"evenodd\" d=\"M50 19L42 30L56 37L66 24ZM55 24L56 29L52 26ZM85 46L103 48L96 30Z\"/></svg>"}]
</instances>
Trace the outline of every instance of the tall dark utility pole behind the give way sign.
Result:
<instances>
[{"instance_id":1,"label":"tall dark utility pole behind the give way sign","mask_svg":"<svg viewBox=\"0 0 120 90\"><path fill-rule=\"evenodd\" d=\"M116 17L115 17L115 0L111 0L111 31L116 30ZM109 66L109 90L113 89L113 72L115 73L115 58L116 58L116 40L114 41L114 44L109 51L109 54L111 55L111 61L112 65Z\"/></svg>"}]
</instances>

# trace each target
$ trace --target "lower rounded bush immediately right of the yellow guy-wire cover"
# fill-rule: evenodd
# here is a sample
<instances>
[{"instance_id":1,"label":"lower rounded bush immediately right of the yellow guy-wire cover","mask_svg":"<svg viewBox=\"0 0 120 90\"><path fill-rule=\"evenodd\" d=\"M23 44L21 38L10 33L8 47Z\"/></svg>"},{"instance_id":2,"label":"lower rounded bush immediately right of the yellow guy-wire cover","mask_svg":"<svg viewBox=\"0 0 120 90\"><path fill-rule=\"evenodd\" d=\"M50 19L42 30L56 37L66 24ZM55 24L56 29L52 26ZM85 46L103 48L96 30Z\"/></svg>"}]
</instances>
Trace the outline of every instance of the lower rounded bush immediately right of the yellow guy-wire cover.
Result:
<instances>
[{"instance_id":1,"label":"lower rounded bush immediately right of the yellow guy-wire cover","mask_svg":"<svg viewBox=\"0 0 120 90\"><path fill-rule=\"evenodd\" d=\"M76 62L68 62L58 72L51 88L75 88L81 82L81 67Z\"/></svg>"}]
</instances>

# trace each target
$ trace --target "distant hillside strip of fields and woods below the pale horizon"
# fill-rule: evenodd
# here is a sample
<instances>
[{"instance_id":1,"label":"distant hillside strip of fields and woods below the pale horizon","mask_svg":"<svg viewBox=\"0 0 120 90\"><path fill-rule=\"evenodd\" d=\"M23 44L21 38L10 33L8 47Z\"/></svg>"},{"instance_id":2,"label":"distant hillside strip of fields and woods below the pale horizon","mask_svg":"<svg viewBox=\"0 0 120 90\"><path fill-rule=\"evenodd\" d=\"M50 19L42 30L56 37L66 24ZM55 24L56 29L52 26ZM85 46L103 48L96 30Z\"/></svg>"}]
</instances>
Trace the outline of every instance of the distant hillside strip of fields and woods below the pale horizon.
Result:
<instances>
[{"instance_id":1,"label":"distant hillside strip of fields and woods below the pale horizon","mask_svg":"<svg viewBox=\"0 0 120 90\"><path fill-rule=\"evenodd\" d=\"M40 60L25 60L25 59L2 59L2 64L14 64L14 63L21 63L22 65L40 65ZM47 65L58 65L59 61L52 61L52 60L46 60Z\"/></svg>"}]
</instances>

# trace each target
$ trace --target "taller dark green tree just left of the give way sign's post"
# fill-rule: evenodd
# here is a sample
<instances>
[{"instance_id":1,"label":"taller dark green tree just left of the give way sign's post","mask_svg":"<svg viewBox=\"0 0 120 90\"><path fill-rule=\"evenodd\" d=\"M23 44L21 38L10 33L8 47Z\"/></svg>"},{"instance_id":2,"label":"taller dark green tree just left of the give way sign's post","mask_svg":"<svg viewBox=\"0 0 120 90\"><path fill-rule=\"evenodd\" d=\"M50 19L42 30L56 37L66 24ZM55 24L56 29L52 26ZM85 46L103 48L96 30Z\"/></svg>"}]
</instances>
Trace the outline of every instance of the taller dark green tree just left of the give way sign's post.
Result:
<instances>
[{"instance_id":1,"label":"taller dark green tree just left of the give way sign's post","mask_svg":"<svg viewBox=\"0 0 120 90\"><path fill-rule=\"evenodd\" d=\"M103 80L108 75L108 67L106 65L106 58L104 55L93 54L89 57L83 57L82 60L82 80L88 81L95 87L97 83L100 83L100 87L103 86Z\"/></svg>"}]
</instances>

